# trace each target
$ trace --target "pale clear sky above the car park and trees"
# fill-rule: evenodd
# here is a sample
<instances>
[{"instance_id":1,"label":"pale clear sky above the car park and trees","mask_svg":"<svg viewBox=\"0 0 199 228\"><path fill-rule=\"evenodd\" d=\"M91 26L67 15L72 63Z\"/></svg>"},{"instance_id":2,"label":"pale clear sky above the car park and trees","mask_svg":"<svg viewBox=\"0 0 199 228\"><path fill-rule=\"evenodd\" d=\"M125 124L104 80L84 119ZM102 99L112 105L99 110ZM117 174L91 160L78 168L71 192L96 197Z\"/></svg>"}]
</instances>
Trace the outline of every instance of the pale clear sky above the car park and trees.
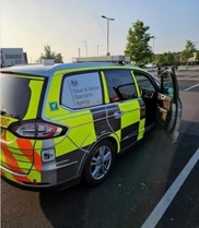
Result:
<instances>
[{"instance_id":1,"label":"pale clear sky above the car park and trees","mask_svg":"<svg viewBox=\"0 0 199 228\"><path fill-rule=\"evenodd\" d=\"M199 49L199 0L0 0L0 47L23 48L33 63L49 45L65 62L72 58L124 55L138 20L150 26L155 53Z\"/></svg>"}]
</instances>

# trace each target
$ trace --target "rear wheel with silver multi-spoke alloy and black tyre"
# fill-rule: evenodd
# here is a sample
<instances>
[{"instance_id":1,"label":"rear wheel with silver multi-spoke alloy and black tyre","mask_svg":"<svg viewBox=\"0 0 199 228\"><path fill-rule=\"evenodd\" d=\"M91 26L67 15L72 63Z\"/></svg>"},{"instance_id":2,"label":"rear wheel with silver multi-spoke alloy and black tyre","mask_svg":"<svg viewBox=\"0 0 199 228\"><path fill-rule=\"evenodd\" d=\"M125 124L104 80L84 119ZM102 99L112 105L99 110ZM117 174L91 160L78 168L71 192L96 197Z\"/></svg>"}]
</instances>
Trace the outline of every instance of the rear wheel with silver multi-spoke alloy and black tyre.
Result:
<instances>
[{"instance_id":1,"label":"rear wheel with silver multi-spoke alloy and black tyre","mask_svg":"<svg viewBox=\"0 0 199 228\"><path fill-rule=\"evenodd\" d=\"M104 140L90 152L83 169L83 180L89 185L102 183L109 175L115 159L115 147Z\"/></svg>"}]
</instances>

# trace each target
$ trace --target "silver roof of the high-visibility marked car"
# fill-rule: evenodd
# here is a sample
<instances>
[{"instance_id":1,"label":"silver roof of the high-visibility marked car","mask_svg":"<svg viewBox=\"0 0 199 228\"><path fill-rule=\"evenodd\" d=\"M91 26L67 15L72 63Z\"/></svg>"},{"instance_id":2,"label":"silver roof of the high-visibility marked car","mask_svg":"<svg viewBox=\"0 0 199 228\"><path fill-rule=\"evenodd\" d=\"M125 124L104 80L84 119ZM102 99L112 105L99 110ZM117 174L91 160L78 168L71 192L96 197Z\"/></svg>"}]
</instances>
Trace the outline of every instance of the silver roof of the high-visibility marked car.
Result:
<instances>
[{"instance_id":1,"label":"silver roof of the high-visibility marked car","mask_svg":"<svg viewBox=\"0 0 199 228\"><path fill-rule=\"evenodd\" d=\"M73 62L73 63L56 63L56 64L20 64L10 68L3 68L0 72L7 73L22 73L31 75L50 76L56 71L67 69L82 69L82 68L102 68L102 67L130 67L138 68L133 64L120 64L112 62Z\"/></svg>"}]
</instances>

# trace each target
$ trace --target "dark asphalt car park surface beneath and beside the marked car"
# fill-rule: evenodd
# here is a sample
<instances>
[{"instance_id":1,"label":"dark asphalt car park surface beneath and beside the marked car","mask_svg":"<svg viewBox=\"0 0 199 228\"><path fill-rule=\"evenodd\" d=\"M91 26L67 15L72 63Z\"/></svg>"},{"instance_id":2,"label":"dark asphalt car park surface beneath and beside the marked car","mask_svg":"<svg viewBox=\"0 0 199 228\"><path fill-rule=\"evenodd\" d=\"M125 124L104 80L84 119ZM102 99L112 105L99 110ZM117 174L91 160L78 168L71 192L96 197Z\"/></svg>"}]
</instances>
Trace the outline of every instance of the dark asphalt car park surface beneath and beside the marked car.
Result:
<instances>
[{"instance_id":1,"label":"dark asphalt car park surface beneath and beside the marked car","mask_svg":"<svg viewBox=\"0 0 199 228\"><path fill-rule=\"evenodd\" d=\"M184 105L177 144L156 128L96 188L38 193L1 181L1 227L198 228L199 71L176 73Z\"/></svg>"}]
</instances>

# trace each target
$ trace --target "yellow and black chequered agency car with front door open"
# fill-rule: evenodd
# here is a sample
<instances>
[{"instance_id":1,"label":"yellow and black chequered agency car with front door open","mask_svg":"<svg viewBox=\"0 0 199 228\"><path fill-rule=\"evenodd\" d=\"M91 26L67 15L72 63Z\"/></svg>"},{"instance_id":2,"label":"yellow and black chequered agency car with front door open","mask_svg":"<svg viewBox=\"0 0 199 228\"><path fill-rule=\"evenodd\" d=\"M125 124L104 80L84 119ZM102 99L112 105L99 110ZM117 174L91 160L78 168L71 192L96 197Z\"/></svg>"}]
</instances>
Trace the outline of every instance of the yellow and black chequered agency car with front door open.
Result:
<instances>
[{"instance_id":1,"label":"yellow and black chequered agency car with front door open","mask_svg":"<svg viewBox=\"0 0 199 228\"><path fill-rule=\"evenodd\" d=\"M96 185L155 124L176 142L183 108L175 72L159 81L125 60L1 69L3 179L34 189Z\"/></svg>"}]
</instances>

